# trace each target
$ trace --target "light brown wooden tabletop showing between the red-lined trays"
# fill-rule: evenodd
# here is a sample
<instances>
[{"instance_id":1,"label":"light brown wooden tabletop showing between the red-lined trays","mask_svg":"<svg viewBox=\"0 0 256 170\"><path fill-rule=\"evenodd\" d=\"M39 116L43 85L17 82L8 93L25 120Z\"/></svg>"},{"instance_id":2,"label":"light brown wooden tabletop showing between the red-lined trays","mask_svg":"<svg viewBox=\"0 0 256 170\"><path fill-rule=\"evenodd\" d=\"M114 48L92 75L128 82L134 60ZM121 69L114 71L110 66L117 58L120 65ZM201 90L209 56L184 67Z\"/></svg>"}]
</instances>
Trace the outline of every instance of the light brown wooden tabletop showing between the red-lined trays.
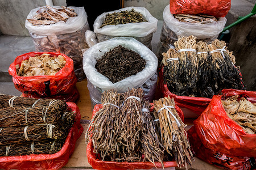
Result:
<instances>
[{"instance_id":1,"label":"light brown wooden tabletop showing between the red-lined trays","mask_svg":"<svg viewBox=\"0 0 256 170\"><path fill-rule=\"evenodd\" d=\"M84 132L81 137L76 142L76 148L71 157L69 158L68 163L63 167L63 170L67 169L92 169L92 166L88 163L88 159L86 157L86 143L85 143L85 131L88 128L88 123L90 118L92 117L92 104L90 101L89 90L87 88L87 80L82 80L81 82L77 82L77 89L80 93L80 100L77 101L77 106L81 112L81 124L84 128ZM187 124L187 129L191 128L193 125L193 118L185 118L185 124ZM176 168L176 169L185 169ZM208 164L200 159L195 157L195 162L192 163L192 168L190 169L208 169L208 170L216 170L219 169L214 167L211 164Z\"/></svg>"}]
</instances>

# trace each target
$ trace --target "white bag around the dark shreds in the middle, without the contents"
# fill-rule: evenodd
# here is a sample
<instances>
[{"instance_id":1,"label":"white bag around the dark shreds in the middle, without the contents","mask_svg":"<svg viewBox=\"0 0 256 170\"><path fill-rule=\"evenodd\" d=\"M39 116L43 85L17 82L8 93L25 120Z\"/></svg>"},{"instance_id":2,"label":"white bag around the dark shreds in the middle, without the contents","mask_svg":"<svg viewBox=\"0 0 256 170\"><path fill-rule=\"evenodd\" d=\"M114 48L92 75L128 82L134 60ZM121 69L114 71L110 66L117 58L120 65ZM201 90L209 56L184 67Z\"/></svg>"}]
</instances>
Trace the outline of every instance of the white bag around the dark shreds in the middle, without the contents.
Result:
<instances>
[{"instance_id":1,"label":"white bag around the dark shreds in the middle, without the contents","mask_svg":"<svg viewBox=\"0 0 256 170\"><path fill-rule=\"evenodd\" d=\"M104 53L109 52L110 49L118 45L122 45L127 49L137 52L142 58L146 59L147 62L141 72L136 75L131 75L117 83L112 83L106 76L98 73L95 65L97 58L102 57ZM155 54L141 42L131 37L115 37L93 45L84 52L83 59L83 68L88 80L88 89L93 105L100 104L101 94L105 90L125 92L129 90L129 88L138 87L142 87L145 98L152 101L158 77L156 75L157 66L158 60Z\"/></svg>"}]
</instances>

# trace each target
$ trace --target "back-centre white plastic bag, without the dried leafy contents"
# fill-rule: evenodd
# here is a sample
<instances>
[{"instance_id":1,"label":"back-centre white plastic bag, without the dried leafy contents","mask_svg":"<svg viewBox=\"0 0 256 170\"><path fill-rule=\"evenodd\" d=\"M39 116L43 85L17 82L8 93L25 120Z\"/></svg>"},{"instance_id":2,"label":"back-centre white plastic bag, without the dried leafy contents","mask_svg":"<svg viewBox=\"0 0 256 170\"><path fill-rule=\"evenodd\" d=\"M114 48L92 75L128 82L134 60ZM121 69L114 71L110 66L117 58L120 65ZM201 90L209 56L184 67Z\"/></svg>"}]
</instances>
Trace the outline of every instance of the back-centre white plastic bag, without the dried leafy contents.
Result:
<instances>
[{"instance_id":1,"label":"back-centre white plastic bag, without the dried leafy contents","mask_svg":"<svg viewBox=\"0 0 256 170\"><path fill-rule=\"evenodd\" d=\"M135 11L140 12L148 22L106 25L105 27L100 28L102 23L104 23L107 14L126 10L131 11L133 8ZM153 33L157 29L157 23L158 19L154 18L146 8L126 7L115 11L104 12L99 15L94 21L93 31L96 33L99 42L119 36L133 37L151 49L151 40Z\"/></svg>"}]
</instances>

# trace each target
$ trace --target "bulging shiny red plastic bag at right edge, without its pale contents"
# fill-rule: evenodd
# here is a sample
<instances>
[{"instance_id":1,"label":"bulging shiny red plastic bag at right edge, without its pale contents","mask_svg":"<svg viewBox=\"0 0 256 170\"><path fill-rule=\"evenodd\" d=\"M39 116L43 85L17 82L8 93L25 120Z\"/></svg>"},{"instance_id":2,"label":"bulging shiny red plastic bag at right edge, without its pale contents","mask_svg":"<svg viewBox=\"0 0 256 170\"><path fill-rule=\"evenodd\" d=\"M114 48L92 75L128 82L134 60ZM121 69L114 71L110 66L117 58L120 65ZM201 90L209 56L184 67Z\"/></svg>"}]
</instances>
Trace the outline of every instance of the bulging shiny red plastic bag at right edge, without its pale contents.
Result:
<instances>
[{"instance_id":1,"label":"bulging shiny red plastic bag at right edge, without its pale contents","mask_svg":"<svg viewBox=\"0 0 256 170\"><path fill-rule=\"evenodd\" d=\"M223 90L227 94L247 95L254 98L256 92ZM252 94L252 95L250 95ZM213 96L207 109L194 121L196 133L203 145L228 155L256 158L256 134L247 134L230 119L221 103L221 97Z\"/></svg>"}]
</instances>

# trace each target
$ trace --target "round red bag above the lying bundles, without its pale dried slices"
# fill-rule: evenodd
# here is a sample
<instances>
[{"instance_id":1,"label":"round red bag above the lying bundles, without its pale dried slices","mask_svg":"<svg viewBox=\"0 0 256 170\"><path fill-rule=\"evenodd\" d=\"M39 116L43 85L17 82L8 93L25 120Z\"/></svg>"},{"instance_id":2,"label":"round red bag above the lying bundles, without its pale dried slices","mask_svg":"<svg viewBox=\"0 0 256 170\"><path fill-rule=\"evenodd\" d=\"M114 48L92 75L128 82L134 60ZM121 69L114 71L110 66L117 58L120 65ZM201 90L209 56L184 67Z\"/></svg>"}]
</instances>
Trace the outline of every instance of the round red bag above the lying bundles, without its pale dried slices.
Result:
<instances>
[{"instance_id":1,"label":"round red bag above the lying bundles, without its pale dried slices","mask_svg":"<svg viewBox=\"0 0 256 170\"><path fill-rule=\"evenodd\" d=\"M34 57L44 53L54 56L63 56L66 60L65 66L55 75L18 76L16 74L15 65L20 65L23 60L28 59L29 57ZM15 58L14 62L11 63L9 67L9 74L13 76L13 83L15 88L27 96L43 99L55 95L59 95L61 98L61 95L63 94L72 94L77 82L77 77L73 69L73 60L63 53L44 53L30 52Z\"/></svg>"}]
</instances>

